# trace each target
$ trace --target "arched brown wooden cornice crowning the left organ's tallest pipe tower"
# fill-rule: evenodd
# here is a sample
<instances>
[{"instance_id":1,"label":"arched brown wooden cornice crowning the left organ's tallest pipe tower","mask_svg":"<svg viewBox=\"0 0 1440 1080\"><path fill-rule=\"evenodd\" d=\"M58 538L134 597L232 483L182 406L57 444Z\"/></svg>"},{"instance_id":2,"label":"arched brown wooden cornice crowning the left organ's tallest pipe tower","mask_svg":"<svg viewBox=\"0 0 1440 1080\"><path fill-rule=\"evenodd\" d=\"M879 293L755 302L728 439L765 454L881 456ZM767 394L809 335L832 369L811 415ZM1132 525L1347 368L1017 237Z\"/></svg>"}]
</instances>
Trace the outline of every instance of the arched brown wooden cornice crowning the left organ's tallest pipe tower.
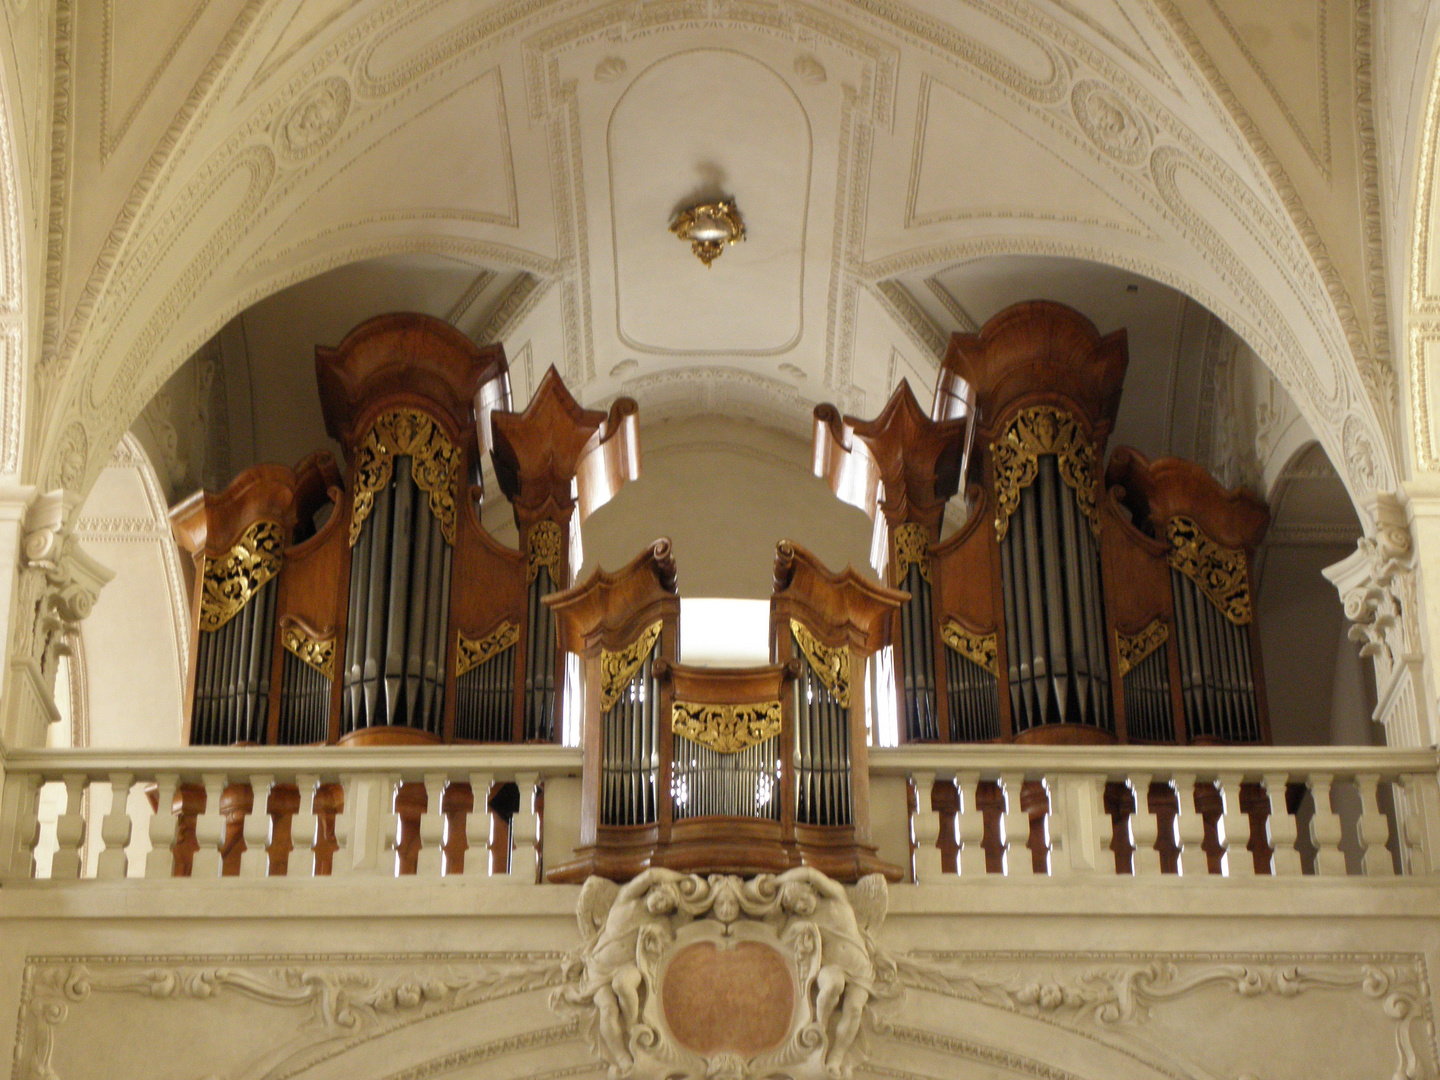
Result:
<instances>
[{"instance_id":1,"label":"arched brown wooden cornice crowning the left organ's tallest pipe tower","mask_svg":"<svg viewBox=\"0 0 1440 1080\"><path fill-rule=\"evenodd\" d=\"M334 348L315 347L325 431L350 459L380 409L410 405L439 419L474 461L475 397L505 373L501 346L477 346L449 323L416 312L377 315Z\"/></svg>"}]
</instances>

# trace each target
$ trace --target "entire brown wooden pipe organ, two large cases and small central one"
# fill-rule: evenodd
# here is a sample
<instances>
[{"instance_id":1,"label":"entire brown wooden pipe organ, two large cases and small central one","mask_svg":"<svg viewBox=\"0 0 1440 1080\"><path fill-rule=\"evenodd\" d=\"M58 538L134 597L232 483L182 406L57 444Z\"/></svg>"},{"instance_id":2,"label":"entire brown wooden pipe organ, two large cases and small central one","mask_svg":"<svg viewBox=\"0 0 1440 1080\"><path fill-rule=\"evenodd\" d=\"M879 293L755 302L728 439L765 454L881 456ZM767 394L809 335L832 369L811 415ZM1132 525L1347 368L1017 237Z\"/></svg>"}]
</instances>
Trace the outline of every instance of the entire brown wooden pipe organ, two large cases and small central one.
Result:
<instances>
[{"instance_id":1,"label":"entire brown wooden pipe organ, two large cases and small central one","mask_svg":"<svg viewBox=\"0 0 1440 1080\"><path fill-rule=\"evenodd\" d=\"M543 867L562 883L657 867L899 880L870 837L867 750L886 716L904 743L1266 743L1250 566L1267 511L1192 462L1106 456L1126 363L1123 330L1032 301L952 338L929 409L904 382L873 419L816 408L815 471L874 518L874 573L782 541L770 662L721 668L681 662L684 552L667 540L576 580L585 518L638 475L635 403L582 408L552 369L516 410L498 346L373 318L315 350L343 462L258 465L171 514L196 564L189 742L569 732L580 845ZM518 549L481 524L497 497ZM963 523L943 534L950 503ZM1117 788L1107 801L1132 798ZM455 780L396 792L402 871L428 801L458 835L487 812L503 835L521 798ZM1031 815L1045 799L1032 783L930 795L942 812L978 799L986 828L1017 814L1005 799ZM300 793L268 799L279 828ZM315 789L321 837L343 799ZM181 835L197 801L174 791ZM226 788L236 829L252 802ZM325 854L317 842L317 873Z\"/></svg>"}]
</instances>

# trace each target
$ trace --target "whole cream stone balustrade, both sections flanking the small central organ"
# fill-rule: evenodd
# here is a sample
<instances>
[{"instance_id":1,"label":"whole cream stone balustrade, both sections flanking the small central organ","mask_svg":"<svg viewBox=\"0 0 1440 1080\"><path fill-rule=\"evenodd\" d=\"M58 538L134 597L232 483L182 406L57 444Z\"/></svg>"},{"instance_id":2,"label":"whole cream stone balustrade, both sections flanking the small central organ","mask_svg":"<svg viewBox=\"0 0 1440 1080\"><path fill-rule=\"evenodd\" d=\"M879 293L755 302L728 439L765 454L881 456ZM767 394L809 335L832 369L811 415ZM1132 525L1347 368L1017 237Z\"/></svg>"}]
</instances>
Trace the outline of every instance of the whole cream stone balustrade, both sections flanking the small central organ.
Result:
<instances>
[{"instance_id":1,"label":"whole cream stone balustrade, both sections flanking the small central organ","mask_svg":"<svg viewBox=\"0 0 1440 1080\"><path fill-rule=\"evenodd\" d=\"M873 831L886 858L910 848L922 884L1427 877L1437 766L1359 747L873 747ZM579 775L559 746L14 750L0 883L533 884L579 844Z\"/></svg>"}]
</instances>

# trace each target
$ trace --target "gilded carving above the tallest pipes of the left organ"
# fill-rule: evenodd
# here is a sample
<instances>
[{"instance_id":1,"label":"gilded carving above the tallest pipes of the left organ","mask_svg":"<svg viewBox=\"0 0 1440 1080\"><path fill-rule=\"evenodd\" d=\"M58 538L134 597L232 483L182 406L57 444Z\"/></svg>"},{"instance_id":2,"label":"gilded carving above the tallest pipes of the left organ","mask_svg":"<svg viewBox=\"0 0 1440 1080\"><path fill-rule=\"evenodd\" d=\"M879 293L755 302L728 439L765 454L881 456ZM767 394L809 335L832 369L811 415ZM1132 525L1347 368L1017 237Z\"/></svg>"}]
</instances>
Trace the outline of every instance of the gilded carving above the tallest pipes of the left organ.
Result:
<instances>
[{"instance_id":1,"label":"gilded carving above the tallest pipes of the left organ","mask_svg":"<svg viewBox=\"0 0 1440 1080\"><path fill-rule=\"evenodd\" d=\"M390 482L395 456L410 455L415 485L431 497L431 513L441 531L455 543L455 485L459 482L459 449L441 426L419 409L392 409L376 418L356 449L356 495L350 514L350 546L374 508L374 492Z\"/></svg>"}]
</instances>

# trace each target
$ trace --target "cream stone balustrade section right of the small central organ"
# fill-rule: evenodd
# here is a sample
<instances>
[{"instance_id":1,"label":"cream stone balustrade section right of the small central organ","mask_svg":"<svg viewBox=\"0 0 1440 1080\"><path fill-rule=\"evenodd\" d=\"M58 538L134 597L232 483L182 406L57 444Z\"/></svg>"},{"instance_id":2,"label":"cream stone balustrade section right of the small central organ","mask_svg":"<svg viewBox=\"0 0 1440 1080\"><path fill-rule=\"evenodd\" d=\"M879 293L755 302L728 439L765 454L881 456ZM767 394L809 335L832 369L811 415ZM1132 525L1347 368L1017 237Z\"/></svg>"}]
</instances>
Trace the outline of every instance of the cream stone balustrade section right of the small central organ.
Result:
<instances>
[{"instance_id":1,"label":"cream stone balustrade section right of the small central organ","mask_svg":"<svg viewBox=\"0 0 1440 1080\"><path fill-rule=\"evenodd\" d=\"M1430 876L1434 750L1368 747L900 747L922 883L1128 874ZM1142 798L1143 793L1143 798Z\"/></svg>"}]
</instances>

